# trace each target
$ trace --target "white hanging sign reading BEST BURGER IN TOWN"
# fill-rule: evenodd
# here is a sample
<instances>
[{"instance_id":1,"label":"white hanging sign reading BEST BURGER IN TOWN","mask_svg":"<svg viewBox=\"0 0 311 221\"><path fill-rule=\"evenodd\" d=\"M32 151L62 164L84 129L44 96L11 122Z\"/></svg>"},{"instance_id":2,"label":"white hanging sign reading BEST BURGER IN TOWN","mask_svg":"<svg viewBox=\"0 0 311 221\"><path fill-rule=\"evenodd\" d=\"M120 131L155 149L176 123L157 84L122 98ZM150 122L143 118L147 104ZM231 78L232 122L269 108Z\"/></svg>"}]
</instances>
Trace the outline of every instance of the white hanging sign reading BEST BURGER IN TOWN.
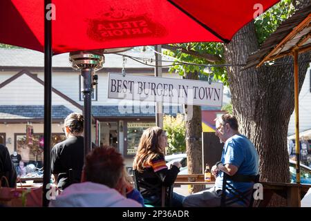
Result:
<instances>
[{"instance_id":1,"label":"white hanging sign reading BEST BURGER IN TOWN","mask_svg":"<svg viewBox=\"0 0 311 221\"><path fill-rule=\"evenodd\" d=\"M220 107L223 84L109 73L108 98Z\"/></svg>"}]
</instances>

